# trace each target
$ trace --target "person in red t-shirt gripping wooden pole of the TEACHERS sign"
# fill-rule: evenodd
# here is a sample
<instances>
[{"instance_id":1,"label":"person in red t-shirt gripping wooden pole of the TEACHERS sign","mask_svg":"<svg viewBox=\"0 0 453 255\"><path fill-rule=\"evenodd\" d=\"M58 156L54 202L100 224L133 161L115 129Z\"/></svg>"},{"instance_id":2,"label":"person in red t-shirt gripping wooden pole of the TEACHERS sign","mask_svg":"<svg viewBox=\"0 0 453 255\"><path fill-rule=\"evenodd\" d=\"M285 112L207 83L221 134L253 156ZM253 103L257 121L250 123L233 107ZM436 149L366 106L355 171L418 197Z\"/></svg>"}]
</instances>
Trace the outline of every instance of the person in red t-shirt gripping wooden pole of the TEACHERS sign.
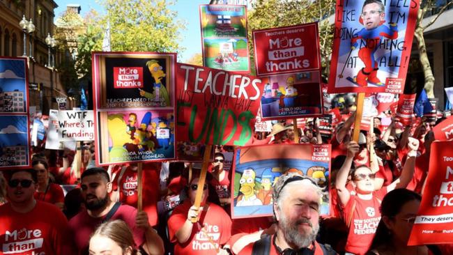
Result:
<instances>
[{"instance_id":1,"label":"person in red t-shirt gripping wooden pole of the TEACHERS sign","mask_svg":"<svg viewBox=\"0 0 453 255\"><path fill-rule=\"evenodd\" d=\"M231 237L231 219L223 208L206 201L206 183L200 207L194 206L199 173L192 174L186 187L188 198L176 206L168 220L169 239L175 243L174 254L229 254L229 247L225 244ZM197 222L192 223L192 219L197 219Z\"/></svg>"}]
</instances>

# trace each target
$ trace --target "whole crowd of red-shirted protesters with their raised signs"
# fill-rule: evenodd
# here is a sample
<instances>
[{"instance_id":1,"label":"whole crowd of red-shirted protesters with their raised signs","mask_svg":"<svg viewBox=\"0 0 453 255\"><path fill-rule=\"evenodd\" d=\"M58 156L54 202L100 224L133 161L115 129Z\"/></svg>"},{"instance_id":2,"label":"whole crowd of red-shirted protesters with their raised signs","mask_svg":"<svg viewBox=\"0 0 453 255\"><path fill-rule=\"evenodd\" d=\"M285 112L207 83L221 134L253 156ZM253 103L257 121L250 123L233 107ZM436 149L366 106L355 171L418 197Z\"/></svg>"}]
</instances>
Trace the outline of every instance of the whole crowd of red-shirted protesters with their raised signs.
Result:
<instances>
[{"instance_id":1,"label":"whole crowd of red-shirted protesters with their raised signs","mask_svg":"<svg viewBox=\"0 0 453 255\"><path fill-rule=\"evenodd\" d=\"M328 80L316 23L253 31L253 76L245 6L204 5L202 37L233 38L206 66L93 52L80 108L1 108L0 254L453 254L451 107L378 60L410 56L419 1L349 2Z\"/></svg>"}]
</instances>

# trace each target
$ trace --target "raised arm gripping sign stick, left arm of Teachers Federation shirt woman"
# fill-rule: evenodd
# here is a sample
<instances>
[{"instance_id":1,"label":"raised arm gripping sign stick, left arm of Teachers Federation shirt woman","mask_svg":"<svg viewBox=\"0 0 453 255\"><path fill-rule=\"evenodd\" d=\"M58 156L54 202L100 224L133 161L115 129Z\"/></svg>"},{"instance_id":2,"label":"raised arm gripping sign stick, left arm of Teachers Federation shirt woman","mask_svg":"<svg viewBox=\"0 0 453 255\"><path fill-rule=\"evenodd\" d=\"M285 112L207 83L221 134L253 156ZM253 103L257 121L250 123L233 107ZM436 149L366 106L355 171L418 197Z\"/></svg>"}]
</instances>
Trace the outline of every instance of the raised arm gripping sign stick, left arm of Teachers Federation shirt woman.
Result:
<instances>
[{"instance_id":1,"label":"raised arm gripping sign stick, left arm of Teachers Federation shirt woman","mask_svg":"<svg viewBox=\"0 0 453 255\"><path fill-rule=\"evenodd\" d=\"M349 171L351 170L351 165L355 155L359 152L359 145L355 141L348 143L348 154L346 155L346 160L344 160L343 165L337 173L337 179L335 180L335 188L337 189L339 201L343 206L348 203L351 194L349 194L348 189L346 189L346 182L348 181Z\"/></svg>"}]
</instances>

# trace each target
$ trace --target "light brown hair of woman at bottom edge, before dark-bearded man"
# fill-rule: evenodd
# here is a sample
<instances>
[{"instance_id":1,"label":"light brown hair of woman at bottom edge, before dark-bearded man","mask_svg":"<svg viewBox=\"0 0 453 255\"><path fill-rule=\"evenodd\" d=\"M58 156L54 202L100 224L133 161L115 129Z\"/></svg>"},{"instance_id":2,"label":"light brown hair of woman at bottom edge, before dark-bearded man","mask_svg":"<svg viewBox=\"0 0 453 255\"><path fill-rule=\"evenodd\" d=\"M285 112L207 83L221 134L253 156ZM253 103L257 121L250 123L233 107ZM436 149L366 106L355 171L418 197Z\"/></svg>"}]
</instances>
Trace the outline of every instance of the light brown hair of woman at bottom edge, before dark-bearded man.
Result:
<instances>
[{"instance_id":1,"label":"light brown hair of woman at bottom edge, before dark-bearded man","mask_svg":"<svg viewBox=\"0 0 453 255\"><path fill-rule=\"evenodd\" d=\"M101 235L111 239L116 243L116 245L121 247L123 254L128 247L132 247L132 254L137 254L132 231L130 231L128 224L123 222L121 219L115 219L100 224L94 231L93 235L91 235L91 238L93 238L94 235Z\"/></svg>"}]
</instances>

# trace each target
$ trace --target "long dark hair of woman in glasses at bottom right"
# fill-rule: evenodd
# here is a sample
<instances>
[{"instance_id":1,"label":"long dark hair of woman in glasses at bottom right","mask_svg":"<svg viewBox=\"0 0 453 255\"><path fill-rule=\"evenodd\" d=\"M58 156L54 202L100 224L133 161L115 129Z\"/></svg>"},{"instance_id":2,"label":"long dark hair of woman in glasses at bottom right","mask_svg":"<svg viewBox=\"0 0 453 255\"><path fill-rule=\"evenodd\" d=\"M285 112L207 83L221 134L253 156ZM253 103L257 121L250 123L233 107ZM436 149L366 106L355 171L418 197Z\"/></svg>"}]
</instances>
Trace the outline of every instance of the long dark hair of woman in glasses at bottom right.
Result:
<instances>
[{"instance_id":1,"label":"long dark hair of woman in glasses at bottom right","mask_svg":"<svg viewBox=\"0 0 453 255\"><path fill-rule=\"evenodd\" d=\"M413 200L421 201L422 196L407 189L392 190L384 196L381 203L381 221L378 224L376 234L369 247L370 250L376 249L381 245L387 245L392 239L392 233L390 232L390 229L387 229L387 226L385 226L382 217L394 217L401 211L401 208L403 208L406 203Z\"/></svg>"}]
</instances>

